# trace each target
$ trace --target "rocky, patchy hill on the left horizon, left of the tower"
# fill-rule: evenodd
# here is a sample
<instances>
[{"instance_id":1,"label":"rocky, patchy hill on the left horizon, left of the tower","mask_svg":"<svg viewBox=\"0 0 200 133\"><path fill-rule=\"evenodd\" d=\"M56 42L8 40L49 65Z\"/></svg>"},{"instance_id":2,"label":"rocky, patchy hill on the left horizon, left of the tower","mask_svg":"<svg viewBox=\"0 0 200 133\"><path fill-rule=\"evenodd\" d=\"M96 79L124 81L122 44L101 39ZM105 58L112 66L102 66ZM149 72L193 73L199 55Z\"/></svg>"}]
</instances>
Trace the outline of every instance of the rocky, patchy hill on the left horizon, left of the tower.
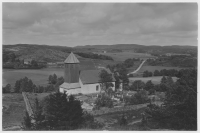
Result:
<instances>
[{"instance_id":1,"label":"rocky, patchy hill on the left horizon, left of the tower","mask_svg":"<svg viewBox=\"0 0 200 133\"><path fill-rule=\"evenodd\" d=\"M48 46L33 44L3 45L4 51L14 52L19 59L34 59L37 61L63 61L72 48L64 46Z\"/></svg>"}]
</instances>

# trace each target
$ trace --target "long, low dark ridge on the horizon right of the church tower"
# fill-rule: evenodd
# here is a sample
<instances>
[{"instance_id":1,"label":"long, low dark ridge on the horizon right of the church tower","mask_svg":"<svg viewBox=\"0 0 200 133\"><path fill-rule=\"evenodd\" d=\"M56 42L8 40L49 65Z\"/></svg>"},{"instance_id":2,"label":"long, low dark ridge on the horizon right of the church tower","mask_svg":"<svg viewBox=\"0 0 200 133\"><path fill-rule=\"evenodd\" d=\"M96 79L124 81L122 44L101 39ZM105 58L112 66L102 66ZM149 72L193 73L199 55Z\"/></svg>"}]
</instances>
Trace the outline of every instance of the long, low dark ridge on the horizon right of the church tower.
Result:
<instances>
[{"instance_id":1,"label":"long, low dark ridge on the horizon right of the church tower","mask_svg":"<svg viewBox=\"0 0 200 133\"><path fill-rule=\"evenodd\" d=\"M99 50L124 50L136 53L150 53L150 54L165 54L165 53L178 53L178 54L191 54L197 56L197 46L144 46L139 44L114 44L114 45L85 45L77 46L75 49L85 51L99 51Z\"/></svg>"}]
</instances>

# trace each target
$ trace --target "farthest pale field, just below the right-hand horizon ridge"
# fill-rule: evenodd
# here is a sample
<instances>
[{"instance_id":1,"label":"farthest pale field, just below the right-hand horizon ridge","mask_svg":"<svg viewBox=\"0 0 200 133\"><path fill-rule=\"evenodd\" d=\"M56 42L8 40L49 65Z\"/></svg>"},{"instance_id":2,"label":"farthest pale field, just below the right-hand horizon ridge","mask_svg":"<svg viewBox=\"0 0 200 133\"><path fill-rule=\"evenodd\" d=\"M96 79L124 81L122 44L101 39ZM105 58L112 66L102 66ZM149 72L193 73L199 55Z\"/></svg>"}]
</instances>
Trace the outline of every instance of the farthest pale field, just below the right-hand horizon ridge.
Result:
<instances>
[{"instance_id":1,"label":"farthest pale field, just below the right-hand horizon ridge","mask_svg":"<svg viewBox=\"0 0 200 133\"><path fill-rule=\"evenodd\" d=\"M101 53L103 55L111 56L115 61L124 61L128 58L154 58L154 56L145 53L134 53L134 52L118 52L118 53Z\"/></svg>"}]
</instances>

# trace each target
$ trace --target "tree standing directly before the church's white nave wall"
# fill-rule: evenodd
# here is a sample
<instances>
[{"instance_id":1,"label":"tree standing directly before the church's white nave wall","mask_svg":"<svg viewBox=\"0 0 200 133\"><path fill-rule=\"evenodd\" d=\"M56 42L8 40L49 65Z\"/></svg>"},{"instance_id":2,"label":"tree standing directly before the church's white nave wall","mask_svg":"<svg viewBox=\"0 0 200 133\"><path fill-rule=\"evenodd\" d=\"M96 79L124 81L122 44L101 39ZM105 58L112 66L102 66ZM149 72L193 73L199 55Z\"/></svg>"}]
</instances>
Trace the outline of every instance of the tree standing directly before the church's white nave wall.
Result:
<instances>
[{"instance_id":1,"label":"tree standing directly before the church's white nave wall","mask_svg":"<svg viewBox=\"0 0 200 133\"><path fill-rule=\"evenodd\" d=\"M106 70L101 70L99 74L102 89L107 93L110 87L113 87L112 74L109 74Z\"/></svg>"}]
</instances>

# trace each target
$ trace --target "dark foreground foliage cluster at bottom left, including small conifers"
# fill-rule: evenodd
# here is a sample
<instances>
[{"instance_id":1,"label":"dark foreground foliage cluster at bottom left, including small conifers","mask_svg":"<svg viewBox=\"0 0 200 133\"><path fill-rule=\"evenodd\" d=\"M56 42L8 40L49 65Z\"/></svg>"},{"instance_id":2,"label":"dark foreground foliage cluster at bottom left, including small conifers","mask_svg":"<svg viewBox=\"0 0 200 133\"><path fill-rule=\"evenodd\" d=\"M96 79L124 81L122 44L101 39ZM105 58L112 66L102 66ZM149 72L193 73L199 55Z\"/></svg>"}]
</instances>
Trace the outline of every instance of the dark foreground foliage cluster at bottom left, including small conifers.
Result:
<instances>
[{"instance_id":1,"label":"dark foreground foliage cluster at bottom left, including small conifers","mask_svg":"<svg viewBox=\"0 0 200 133\"><path fill-rule=\"evenodd\" d=\"M33 116L26 113L24 117L24 130L97 129L103 126L83 111L79 100L59 92L47 96L42 104L36 99L33 111Z\"/></svg>"}]
</instances>

